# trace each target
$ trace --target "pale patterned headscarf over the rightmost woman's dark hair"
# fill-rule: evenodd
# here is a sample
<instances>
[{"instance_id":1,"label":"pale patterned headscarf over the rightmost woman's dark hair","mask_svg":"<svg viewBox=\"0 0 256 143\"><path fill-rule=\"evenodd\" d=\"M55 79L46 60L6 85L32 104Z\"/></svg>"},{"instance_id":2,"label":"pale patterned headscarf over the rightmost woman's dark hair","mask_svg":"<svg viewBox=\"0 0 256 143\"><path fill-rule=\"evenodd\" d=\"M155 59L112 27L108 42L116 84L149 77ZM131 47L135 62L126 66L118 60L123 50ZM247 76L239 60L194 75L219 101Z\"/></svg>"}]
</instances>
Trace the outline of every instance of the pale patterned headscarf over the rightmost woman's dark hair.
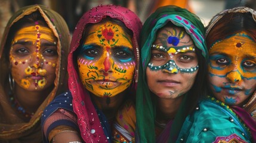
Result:
<instances>
[{"instance_id":1,"label":"pale patterned headscarf over the rightmost woman's dark hair","mask_svg":"<svg viewBox=\"0 0 256 143\"><path fill-rule=\"evenodd\" d=\"M223 15L225 15L227 13L251 13L252 19L255 21L255 24L256 24L256 11L255 10L252 10L251 8L248 8L248 7L236 7L236 8L232 8L232 9L229 9L229 10L221 11L220 13L216 14L212 18L212 20L209 22L209 24L206 28L206 36L208 36L208 33L211 31L212 27L214 27L215 24L223 17ZM254 115L253 116L254 120L256 120L256 104L255 104L255 101L256 101L256 91L250 97L248 102L246 102L246 104L243 105L243 108L246 111L248 111L248 113L251 113L251 114Z\"/></svg>"}]
</instances>

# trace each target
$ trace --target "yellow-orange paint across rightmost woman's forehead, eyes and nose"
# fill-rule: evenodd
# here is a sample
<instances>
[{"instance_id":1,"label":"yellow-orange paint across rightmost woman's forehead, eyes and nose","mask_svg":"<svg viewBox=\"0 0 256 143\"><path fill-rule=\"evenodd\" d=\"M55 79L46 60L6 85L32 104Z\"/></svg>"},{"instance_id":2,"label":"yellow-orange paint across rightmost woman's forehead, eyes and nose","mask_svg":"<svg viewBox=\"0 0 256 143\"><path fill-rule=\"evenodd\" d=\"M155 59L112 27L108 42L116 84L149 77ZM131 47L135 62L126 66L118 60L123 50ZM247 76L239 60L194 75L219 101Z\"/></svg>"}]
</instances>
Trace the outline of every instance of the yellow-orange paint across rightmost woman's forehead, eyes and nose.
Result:
<instances>
[{"instance_id":1,"label":"yellow-orange paint across rightmost woman's forehead, eyes and nose","mask_svg":"<svg viewBox=\"0 0 256 143\"><path fill-rule=\"evenodd\" d=\"M255 78L255 47L256 43L246 33L238 33L215 43L209 50L210 73L233 80Z\"/></svg>"}]
</instances>

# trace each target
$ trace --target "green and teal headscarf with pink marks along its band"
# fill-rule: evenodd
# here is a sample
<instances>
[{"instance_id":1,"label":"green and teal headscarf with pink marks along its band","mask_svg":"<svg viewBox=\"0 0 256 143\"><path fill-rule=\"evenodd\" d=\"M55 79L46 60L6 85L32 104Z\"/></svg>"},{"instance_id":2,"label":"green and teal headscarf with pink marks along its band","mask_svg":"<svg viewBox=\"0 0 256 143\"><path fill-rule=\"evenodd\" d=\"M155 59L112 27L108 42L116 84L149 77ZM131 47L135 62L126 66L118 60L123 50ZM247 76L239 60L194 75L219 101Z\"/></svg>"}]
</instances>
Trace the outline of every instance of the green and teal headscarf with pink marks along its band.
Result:
<instances>
[{"instance_id":1,"label":"green and teal headscarf with pink marks along its band","mask_svg":"<svg viewBox=\"0 0 256 143\"><path fill-rule=\"evenodd\" d=\"M168 5L158 8L145 21L141 31L141 60L139 69L139 79L136 95L136 140L137 142L156 142L155 138L155 117L156 117L156 102L152 99L149 87L146 82L146 68L150 61L152 43L155 41L156 32L161 27L164 27L169 21L175 26L183 27L193 39L196 48L201 50L203 57L207 58L208 52L206 49L204 35L205 27L201 20L188 10ZM199 68L201 68L199 66ZM178 137L180 128L184 119L187 116L187 101L189 94L183 95L183 101L175 116L174 123L170 131L169 141L174 142ZM190 107L193 108L193 107ZM174 140L173 140L174 139Z\"/></svg>"}]
</instances>

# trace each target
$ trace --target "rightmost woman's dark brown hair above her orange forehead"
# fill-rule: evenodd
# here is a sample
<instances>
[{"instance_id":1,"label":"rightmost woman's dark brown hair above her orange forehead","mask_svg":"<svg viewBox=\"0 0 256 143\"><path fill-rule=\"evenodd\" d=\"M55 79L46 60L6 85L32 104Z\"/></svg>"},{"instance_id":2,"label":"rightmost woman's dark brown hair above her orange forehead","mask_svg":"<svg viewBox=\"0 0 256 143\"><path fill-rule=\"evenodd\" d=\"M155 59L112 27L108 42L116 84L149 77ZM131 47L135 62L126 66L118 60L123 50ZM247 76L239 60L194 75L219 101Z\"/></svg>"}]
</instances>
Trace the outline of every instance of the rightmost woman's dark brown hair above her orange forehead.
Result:
<instances>
[{"instance_id":1,"label":"rightmost woman's dark brown hair above her orange forehead","mask_svg":"<svg viewBox=\"0 0 256 143\"><path fill-rule=\"evenodd\" d=\"M227 38L227 36L244 31L256 41L256 24L251 13L226 13L215 23L206 36L208 49L218 41Z\"/></svg>"}]
</instances>

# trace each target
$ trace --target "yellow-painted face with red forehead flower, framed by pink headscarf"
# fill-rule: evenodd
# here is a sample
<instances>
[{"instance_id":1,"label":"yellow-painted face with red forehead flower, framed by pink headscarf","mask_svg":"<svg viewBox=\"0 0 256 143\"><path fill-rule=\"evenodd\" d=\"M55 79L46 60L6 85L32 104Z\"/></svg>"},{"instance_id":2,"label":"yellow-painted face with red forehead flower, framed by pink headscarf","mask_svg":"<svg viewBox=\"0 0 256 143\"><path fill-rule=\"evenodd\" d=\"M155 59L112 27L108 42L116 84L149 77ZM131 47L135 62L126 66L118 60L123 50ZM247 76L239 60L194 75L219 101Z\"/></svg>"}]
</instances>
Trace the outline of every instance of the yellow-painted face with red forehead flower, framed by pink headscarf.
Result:
<instances>
[{"instance_id":1,"label":"yellow-painted face with red forehead flower, framed by pink headscarf","mask_svg":"<svg viewBox=\"0 0 256 143\"><path fill-rule=\"evenodd\" d=\"M121 26L109 21L94 24L79 50L79 76L92 94L113 97L131 85L135 70L132 42Z\"/></svg>"}]
</instances>

